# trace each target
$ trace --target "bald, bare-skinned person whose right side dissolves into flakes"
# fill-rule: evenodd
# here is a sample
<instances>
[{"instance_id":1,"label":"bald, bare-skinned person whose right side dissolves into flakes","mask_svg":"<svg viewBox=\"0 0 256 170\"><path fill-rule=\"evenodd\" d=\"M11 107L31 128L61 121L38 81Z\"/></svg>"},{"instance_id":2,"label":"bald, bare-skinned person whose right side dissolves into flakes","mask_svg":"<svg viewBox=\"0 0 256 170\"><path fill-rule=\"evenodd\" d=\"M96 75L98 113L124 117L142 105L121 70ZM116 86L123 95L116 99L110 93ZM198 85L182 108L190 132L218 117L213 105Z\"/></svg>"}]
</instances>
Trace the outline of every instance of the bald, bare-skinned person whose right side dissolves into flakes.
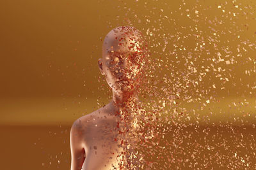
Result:
<instances>
[{"instance_id":1,"label":"bald, bare-skinned person whose right side dissolves into flakes","mask_svg":"<svg viewBox=\"0 0 256 170\"><path fill-rule=\"evenodd\" d=\"M98 65L113 91L113 99L72 125L71 170L131 167L125 154L132 145L132 129L136 129L134 115L140 103L137 92L146 59L147 45L138 29L116 27L108 33Z\"/></svg>"}]
</instances>

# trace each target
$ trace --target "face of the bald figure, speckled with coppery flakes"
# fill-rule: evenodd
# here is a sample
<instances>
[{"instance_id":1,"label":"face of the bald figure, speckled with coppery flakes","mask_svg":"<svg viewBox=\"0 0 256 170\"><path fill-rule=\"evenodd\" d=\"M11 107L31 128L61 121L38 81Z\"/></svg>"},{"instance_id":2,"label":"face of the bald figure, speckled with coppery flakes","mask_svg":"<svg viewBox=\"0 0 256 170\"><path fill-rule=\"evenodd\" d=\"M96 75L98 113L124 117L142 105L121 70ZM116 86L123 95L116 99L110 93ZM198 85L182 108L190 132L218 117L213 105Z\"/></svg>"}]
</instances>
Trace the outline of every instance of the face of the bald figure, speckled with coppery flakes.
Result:
<instances>
[{"instance_id":1,"label":"face of the bald figure, speckled with coppery flakes","mask_svg":"<svg viewBox=\"0 0 256 170\"><path fill-rule=\"evenodd\" d=\"M120 39L124 41L120 43ZM140 86L145 62L139 49L140 46L134 38L125 39L114 31L106 36L99 68L113 90L134 92Z\"/></svg>"}]
</instances>

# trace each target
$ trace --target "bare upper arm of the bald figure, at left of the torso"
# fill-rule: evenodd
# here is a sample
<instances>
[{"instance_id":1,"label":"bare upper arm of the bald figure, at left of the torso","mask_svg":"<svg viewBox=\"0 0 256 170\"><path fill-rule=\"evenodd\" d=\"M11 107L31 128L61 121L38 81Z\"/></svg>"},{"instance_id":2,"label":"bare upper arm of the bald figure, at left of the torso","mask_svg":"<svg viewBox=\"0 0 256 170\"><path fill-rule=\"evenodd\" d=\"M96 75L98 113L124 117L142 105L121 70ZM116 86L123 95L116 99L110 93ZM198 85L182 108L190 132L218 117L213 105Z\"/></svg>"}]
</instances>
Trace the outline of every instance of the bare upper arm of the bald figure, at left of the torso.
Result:
<instances>
[{"instance_id":1,"label":"bare upper arm of the bald figure, at left of the torso","mask_svg":"<svg viewBox=\"0 0 256 170\"><path fill-rule=\"evenodd\" d=\"M76 120L70 130L71 170L81 170L84 162L83 131L81 123Z\"/></svg>"}]
</instances>

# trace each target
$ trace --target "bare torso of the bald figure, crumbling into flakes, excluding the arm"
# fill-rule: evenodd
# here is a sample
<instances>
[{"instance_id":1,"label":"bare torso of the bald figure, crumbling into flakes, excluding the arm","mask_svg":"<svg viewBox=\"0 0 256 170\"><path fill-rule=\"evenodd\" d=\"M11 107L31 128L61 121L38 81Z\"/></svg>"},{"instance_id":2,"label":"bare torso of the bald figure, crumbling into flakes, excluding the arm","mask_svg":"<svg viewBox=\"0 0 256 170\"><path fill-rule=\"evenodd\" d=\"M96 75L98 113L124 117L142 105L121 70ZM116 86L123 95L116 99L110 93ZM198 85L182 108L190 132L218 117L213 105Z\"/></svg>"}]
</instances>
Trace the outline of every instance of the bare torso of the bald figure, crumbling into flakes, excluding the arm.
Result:
<instances>
[{"instance_id":1,"label":"bare torso of the bald figure, crumbling into flakes, excluding the arm","mask_svg":"<svg viewBox=\"0 0 256 170\"><path fill-rule=\"evenodd\" d=\"M80 122L81 121L81 122ZM119 134L120 117L108 106L79 118L85 160L82 169L119 169L123 151Z\"/></svg>"}]
</instances>

